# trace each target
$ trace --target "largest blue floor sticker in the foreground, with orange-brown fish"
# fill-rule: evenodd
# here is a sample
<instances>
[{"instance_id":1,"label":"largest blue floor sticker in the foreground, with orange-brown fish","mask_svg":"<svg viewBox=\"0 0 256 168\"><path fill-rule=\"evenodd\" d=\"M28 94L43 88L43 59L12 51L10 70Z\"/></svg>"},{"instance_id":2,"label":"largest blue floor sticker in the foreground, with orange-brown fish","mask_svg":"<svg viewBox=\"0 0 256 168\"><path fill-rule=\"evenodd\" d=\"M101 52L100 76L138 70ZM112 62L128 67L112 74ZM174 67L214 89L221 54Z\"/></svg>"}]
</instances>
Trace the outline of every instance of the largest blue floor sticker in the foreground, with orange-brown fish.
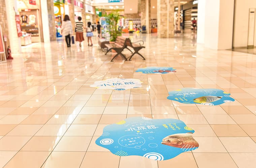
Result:
<instances>
[{"instance_id":1,"label":"largest blue floor sticker in the foreground, with orange-brown fish","mask_svg":"<svg viewBox=\"0 0 256 168\"><path fill-rule=\"evenodd\" d=\"M117 156L168 160L198 148L194 132L177 119L132 117L105 126L96 144Z\"/></svg>"}]
</instances>

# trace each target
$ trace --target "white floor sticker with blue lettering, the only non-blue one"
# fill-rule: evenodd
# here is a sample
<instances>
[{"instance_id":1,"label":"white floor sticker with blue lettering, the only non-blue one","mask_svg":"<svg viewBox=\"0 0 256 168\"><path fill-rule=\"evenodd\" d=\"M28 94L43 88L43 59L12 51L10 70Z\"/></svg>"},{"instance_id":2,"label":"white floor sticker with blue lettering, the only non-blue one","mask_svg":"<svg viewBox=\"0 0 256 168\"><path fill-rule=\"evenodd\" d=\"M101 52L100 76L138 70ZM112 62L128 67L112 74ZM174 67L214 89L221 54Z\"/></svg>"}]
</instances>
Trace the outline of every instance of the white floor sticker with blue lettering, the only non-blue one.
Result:
<instances>
[{"instance_id":1,"label":"white floor sticker with blue lettering, the only non-blue one","mask_svg":"<svg viewBox=\"0 0 256 168\"><path fill-rule=\"evenodd\" d=\"M96 81L90 87L97 89L113 89L113 90L127 90L132 88L142 87L139 79L120 79L111 78L103 81Z\"/></svg>"}]
</instances>

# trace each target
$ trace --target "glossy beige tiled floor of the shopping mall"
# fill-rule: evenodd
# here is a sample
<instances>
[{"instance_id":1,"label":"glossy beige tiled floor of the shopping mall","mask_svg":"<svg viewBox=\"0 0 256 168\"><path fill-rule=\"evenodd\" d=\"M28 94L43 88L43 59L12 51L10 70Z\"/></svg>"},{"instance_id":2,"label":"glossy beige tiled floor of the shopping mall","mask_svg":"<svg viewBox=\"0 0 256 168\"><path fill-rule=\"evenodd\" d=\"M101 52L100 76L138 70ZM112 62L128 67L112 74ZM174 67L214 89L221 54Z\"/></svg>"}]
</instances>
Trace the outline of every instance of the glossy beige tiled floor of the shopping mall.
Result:
<instances>
[{"instance_id":1,"label":"glossy beige tiled floor of the shopping mall","mask_svg":"<svg viewBox=\"0 0 256 168\"><path fill-rule=\"evenodd\" d=\"M129 35L125 35L129 36ZM23 47L0 64L0 167L5 168L253 168L256 165L256 56L205 49L190 32L144 40L146 61L110 62L94 46L66 48L62 40ZM127 56L129 52L127 53ZM137 68L166 66L176 73L151 75ZM108 78L137 78L141 88L89 87ZM167 100L183 87L219 88L234 102L197 106ZM127 117L176 118L195 130L199 148L166 161L119 157L97 146L107 124Z\"/></svg>"}]
</instances>

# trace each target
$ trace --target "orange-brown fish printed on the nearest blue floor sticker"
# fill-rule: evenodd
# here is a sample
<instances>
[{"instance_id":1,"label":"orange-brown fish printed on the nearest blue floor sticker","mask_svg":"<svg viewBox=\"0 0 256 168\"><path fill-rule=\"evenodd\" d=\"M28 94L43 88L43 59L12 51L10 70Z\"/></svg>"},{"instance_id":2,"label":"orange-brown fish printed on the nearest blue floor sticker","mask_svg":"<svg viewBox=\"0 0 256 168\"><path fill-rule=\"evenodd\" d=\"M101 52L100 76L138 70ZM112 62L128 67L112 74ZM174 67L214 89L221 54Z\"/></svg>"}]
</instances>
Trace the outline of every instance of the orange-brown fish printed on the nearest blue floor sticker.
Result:
<instances>
[{"instance_id":1,"label":"orange-brown fish printed on the nearest blue floor sticker","mask_svg":"<svg viewBox=\"0 0 256 168\"><path fill-rule=\"evenodd\" d=\"M161 143L182 149L197 148L199 146L197 141L192 137L192 133L190 132L166 136L163 138Z\"/></svg>"}]
</instances>

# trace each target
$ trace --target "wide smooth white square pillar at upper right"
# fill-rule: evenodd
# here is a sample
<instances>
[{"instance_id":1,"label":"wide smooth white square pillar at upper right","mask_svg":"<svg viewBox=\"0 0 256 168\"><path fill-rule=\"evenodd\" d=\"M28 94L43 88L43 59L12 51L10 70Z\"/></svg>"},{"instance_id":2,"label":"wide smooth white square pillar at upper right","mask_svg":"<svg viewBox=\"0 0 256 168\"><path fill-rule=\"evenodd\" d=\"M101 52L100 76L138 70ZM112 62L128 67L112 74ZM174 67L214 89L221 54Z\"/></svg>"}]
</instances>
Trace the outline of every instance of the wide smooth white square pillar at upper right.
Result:
<instances>
[{"instance_id":1,"label":"wide smooth white square pillar at upper right","mask_svg":"<svg viewBox=\"0 0 256 168\"><path fill-rule=\"evenodd\" d=\"M232 48L233 0L199 0L197 42L206 48Z\"/></svg>"}]
</instances>

